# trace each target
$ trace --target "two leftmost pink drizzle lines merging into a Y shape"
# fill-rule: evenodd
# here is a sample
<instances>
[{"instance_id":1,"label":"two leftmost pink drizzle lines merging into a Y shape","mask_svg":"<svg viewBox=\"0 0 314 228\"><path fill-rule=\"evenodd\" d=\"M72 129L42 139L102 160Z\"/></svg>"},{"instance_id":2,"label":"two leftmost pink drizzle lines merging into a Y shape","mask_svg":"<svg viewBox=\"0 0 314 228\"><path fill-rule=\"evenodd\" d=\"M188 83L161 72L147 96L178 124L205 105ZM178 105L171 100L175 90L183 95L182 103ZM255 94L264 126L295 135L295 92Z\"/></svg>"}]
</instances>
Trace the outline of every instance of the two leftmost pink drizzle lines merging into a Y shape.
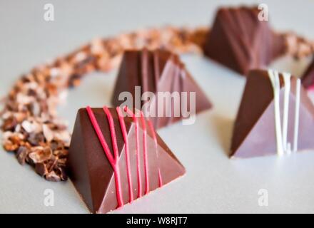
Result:
<instances>
[{"instance_id":1,"label":"two leftmost pink drizzle lines merging into a Y shape","mask_svg":"<svg viewBox=\"0 0 314 228\"><path fill-rule=\"evenodd\" d=\"M110 165L113 168L114 178L116 182L116 199L118 202L118 207L121 207L123 206L123 199L122 199L122 194L121 194L122 191L121 191L120 170L118 168L118 162L117 162L118 161L118 147L116 146L116 139L115 139L116 133L114 132L114 126L113 126L111 113L109 112L108 108L103 107L103 110L105 111L108 121L109 121L112 144L113 144L113 151L114 151L114 158L112 157L109 147L107 145L107 142L105 138L103 137L103 133L101 133L101 128L99 128L95 115L93 115L93 111L91 110L89 106L86 107L86 110L87 110L89 119L91 120L91 124L93 125L93 129L95 130L98 140L101 143L101 147L103 147L103 151L105 152L106 157L108 158Z\"/></svg>"}]
</instances>

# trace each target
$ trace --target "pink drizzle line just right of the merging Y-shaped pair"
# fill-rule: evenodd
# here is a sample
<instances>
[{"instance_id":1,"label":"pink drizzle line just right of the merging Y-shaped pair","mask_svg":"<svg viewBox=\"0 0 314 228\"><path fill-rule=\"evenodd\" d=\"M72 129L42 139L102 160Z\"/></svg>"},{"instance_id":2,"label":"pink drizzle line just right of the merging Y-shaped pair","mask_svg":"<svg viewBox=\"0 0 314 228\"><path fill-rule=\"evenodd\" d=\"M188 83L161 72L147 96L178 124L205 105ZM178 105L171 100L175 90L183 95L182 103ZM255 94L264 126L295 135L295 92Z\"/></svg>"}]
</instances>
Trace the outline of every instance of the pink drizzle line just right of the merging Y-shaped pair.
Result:
<instances>
[{"instance_id":1,"label":"pink drizzle line just right of the merging Y-shaped pair","mask_svg":"<svg viewBox=\"0 0 314 228\"><path fill-rule=\"evenodd\" d=\"M132 186L132 176L131 176L131 167L130 167L130 157L128 152L128 133L126 132L126 123L124 122L124 117L121 113L121 109L119 107L116 108L116 112L118 113L119 122L121 125L121 131L125 143L125 151L126 151L126 174L128 176L128 202L133 201L133 186Z\"/></svg>"}]
</instances>

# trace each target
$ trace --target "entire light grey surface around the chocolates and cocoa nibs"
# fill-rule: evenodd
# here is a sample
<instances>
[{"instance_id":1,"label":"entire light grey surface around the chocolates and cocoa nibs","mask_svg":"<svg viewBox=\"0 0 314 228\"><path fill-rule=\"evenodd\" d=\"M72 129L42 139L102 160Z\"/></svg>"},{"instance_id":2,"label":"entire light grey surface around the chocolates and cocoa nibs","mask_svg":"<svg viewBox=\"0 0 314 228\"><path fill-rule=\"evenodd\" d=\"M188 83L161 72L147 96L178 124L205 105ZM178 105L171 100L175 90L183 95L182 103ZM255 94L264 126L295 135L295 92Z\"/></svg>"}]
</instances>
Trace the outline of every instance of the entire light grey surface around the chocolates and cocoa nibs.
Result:
<instances>
[{"instance_id":1,"label":"entire light grey surface around the chocolates and cocoa nibs","mask_svg":"<svg viewBox=\"0 0 314 228\"><path fill-rule=\"evenodd\" d=\"M33 66L54 59L97 36L147 26L207 25L220 5L255 1L4 1L0 0L0 96ZM314 1L264 1L271 24L314 38ZM55 6L54 22L43 19L44 3ZM125 212L314 212L314 153L229 160L231 140L245 79L200 56L183 56L214 108L196 124L159 130L186 166L184 177L119 209ZM308 60L284 58L273 64L300 75ZM69 93L60 115L71 125L85 105L109 105L116 71L95 73ZM54 207L44 206L44 190L54 190ZM258 206L267 189L268 207ZM71 182L46 182L14 155L0 151L0 212L86 213Z\"/></svg>"}]
</instances>

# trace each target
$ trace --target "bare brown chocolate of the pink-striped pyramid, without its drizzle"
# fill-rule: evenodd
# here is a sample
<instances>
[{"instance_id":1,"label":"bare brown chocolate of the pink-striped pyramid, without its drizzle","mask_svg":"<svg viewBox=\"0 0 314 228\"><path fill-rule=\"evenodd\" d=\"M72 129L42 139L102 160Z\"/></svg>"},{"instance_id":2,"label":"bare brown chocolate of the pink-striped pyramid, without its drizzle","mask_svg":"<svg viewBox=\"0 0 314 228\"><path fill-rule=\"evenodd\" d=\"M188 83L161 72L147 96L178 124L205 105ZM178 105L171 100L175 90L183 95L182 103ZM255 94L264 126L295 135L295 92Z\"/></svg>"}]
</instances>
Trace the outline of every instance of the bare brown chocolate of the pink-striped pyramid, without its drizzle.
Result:
<instances>
[{"instance_id":1,"label":"bare brown chocolate of the pink-striped pyramid, without its drizzle","mask_svg":"<svg viewBox=\"0 0 314 228\"><path fill-rule=\"evenodd\" d=\"M102 108L92 108L93 114L101 128L103 138L106 140L109 149L113 151L111 132L109 129L106 114ZM118 168L121 178L121 194L123 196L123 204L130 202L128 192L128 172L126 170L126 147L123 140L123 133L116 113L116 108L110 108L113 117L113 123L116 133L116 142L118 146ZM130 157L131 180L133 183L134 199L138 198L138 178L137 178L137 161L136 161L136 130L133 118L124 118L126 132L128 135L128 154ZM140 173L141 173L141 195L145 195L146 176L144 174L144 157L143 157L143 125L138 125ZM173 155L165 142L156 134L156 144L153 140L151 129L146 123L146 146L148 155L148 178L149 191L153 191L161 187L158 180L158 170L160 170L162 185L171 182L184 175L186 172L184 167ZM114 171L111 163L106 157L103 147L98 140L96 132L88 117L86 108L78 110L74 133L71 139L69 149L69 177L74 183L76 190L81 195L86 205L93 213L106 213L116 209L116 185Z\"/></svg>"}]
</instances>

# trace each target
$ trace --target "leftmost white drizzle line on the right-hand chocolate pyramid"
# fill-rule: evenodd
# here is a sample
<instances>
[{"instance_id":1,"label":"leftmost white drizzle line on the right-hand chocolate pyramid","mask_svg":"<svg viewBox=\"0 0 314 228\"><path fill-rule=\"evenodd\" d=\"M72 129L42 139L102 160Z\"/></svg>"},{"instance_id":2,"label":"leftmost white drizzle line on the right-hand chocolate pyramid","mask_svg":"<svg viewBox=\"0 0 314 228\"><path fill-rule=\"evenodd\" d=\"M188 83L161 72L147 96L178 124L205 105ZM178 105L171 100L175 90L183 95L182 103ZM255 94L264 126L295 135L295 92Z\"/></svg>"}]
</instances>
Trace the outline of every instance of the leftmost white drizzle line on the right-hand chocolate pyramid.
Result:
<instances>
[{"instance_id":1,"label":"leftmost white drizzle line on the right-hand chocolate pyramid","mask_svg":"<svg viewBox=\"0 0 314 228\"><path fill-rule=\"evenodd\" d=\"M273 96L275 105L275 134L277 139L277 153L279 156L283 155L283 137L281 134L280 121L280 82L278 72L268 70L268 76L273 86Z\"/></svg>"}]
</instances>

